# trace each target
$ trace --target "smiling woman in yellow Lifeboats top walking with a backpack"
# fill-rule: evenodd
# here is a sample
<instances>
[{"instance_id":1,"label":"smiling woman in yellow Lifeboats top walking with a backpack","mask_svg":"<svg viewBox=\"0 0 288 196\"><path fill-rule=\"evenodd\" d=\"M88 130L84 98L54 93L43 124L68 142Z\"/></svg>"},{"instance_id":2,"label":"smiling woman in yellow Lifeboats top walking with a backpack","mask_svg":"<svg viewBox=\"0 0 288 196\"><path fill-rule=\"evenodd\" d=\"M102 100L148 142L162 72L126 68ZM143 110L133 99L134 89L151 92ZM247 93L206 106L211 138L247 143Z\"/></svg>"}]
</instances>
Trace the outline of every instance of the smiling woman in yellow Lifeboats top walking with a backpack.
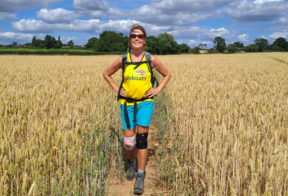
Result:
<instances>
[{"instance_id":1,"label":"smiling woman in yellow Lifeboats top walking with a backpack","mask_svg":"<svg viewBox=\"0 0 288 196\"><path fill-rule=\"evenodd\" d=\"M130 30L128 41L132 51L125 58L123 56L119 57L112 65L107 67L103 72L103 76L121 98L120 109L124 129L124 147L129 158L126 172L127 180L132 180L135 176L135 146L138 149L138 172L134 184L134 193L141 194L144 192L145 166L148 153L147 137L154 109L153 96L156 96L166 86L171 78L171 73L154 55L150 56L149 53L143 52L147 40L143 26L136 23L131 26ZM152 88L152 72L149 69L149 63L147 63L149 57L151 57L151 68L155 68L164 77L157 88ZM118 69L122 69L122 61L126 63L124 63L123 85L120 85L122 88L119 89L111 75Z\"/></svg>"}]
</instances>

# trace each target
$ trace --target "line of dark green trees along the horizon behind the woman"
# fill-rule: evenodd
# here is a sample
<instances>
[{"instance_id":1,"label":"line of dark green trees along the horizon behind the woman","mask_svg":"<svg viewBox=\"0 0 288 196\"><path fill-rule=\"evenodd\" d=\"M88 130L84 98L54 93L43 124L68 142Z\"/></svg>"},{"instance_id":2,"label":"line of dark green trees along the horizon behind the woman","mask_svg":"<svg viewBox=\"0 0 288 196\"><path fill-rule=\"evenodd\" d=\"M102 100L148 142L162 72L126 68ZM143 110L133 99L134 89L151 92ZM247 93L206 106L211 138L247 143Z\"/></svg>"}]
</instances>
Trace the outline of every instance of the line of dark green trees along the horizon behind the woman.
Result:
<instances>
[{"instance_id":1,"label":"line of dark green trees along the horizon behind the woman","mask_svg":"<svg viewBox=\"0 0 288 196\"><path fill-rule=\"evenodd\" d=\"M121 52L125 53L128 46L128 36L124 36L123 33L116 33L114 31L103 31L99 38L92 37L85 44L85 47L89 50L94 50L95 52ZM234 42L233 44L225 43L225 39L222 37L215 37L214 47L207 50L207 53L236 53L237 51L245 52L272 52L272 51L288 51L288 41L285 38L277 38L273 44L269 44L268 40L265 38L256 38L253 44L244 46L241 42ZM15 47L17 42L13 42L9 45L2 45L0 47ZM28 48L35 49L50 49L50 48L61 48L62 46L70 46L73 48L73 40L69 40L67 44L62 44L60 36L58 40L50 35L46 35L44 40L36 39L33 37L31 43L24 44ZM21 47L24 47L23 45ZM147 36L146 47L144 51L147 51L153 55L176 55L181 53L200 53L199 50L206 50L207 44L201 42L198 46L190 48L185 43L177 44L174 36L164 32L160 33L157 37L150 35Z\"/></svg>"}]
</instances>

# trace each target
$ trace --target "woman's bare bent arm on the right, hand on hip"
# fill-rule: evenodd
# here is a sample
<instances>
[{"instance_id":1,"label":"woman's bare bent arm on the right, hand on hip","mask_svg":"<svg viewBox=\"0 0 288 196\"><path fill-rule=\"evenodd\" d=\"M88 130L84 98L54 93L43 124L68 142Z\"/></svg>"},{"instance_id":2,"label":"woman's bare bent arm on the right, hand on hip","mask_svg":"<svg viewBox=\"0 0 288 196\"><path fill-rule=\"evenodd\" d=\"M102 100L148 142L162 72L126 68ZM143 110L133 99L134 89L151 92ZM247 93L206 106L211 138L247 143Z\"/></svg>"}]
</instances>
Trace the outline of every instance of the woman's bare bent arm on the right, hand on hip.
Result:
<instances>
[{"instance_id":1,"label":"woman's bare bent arm on the right, hand on hip","mask_svg":"<svg viewBox=\"0 0 288 196\"><path fill-rule=\"evenodd\" d=\"M154 55L151 55L151 66L152 68L155 68L164 78L157 88L150 88L146 92L146 96L149 98L159 94L171 78L170 71Z\"/></svg>"}]
</instances>

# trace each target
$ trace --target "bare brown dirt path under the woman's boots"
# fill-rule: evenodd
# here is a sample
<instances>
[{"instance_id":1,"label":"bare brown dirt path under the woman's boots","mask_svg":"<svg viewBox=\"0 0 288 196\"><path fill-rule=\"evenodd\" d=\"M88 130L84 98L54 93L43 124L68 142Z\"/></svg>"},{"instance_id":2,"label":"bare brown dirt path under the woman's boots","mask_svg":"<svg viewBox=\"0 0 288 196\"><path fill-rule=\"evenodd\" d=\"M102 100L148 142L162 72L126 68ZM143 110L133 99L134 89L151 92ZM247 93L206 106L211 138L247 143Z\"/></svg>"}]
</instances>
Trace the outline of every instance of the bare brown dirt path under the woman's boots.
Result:
<instances>
[{"instance_id":1,"label":"bare brown dirt path under the woman's boots","mask_svg":"<svg viewBox=\"0 0 288 196\"><path fill-rule=\"evenodd\" d=\"M147 165L145 167L146 177L144 180L144 193L142 195L168 195L168 193L165 193L162 191L160 187L155 187L153 183L153 179L156 178L155 170L154 170L154 163L153 163L153 154L154 154L154 148L155 145L157 145L156 141L153 141L151 138L150 133L154 134L156 131L155 127L150 126L149 129L149 135L148 135L148 157L147 157ZM137 154L137 150L136 150ZM127 160L125 165L127 165ZM138 167L136 164L136 171ZM126 173L124 173L126 175ZM117 179L109 179L107 182L107 192L108 196L126 196L126 195L134 195L133 194L133 188L135 183L135 178L132 181L128 181L126 179L126 176L123 175L123 182L119 179L118 182Z\"/></svg>"}]
</instances>

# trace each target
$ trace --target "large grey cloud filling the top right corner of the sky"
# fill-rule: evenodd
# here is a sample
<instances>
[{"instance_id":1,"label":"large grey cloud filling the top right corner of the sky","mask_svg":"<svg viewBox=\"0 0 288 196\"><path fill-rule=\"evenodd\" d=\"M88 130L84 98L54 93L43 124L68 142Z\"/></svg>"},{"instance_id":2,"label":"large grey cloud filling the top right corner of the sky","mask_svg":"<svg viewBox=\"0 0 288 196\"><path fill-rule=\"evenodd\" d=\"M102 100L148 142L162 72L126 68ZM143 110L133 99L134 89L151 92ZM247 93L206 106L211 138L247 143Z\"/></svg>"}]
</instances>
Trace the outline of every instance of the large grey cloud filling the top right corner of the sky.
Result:
<instances>
[{"instance_id":1,"label":"large grey cloud filling the top right corner of the sky","mask_svg":"<svg viewBox=\"0 0 288 196\"><path fill-rule=\"evenodd\" d=\"M236 2L237 3L237 2ZM221 11L230 15L230 18L241 22L267 22L276 20L287 13L288 2L278 0L241 1L223 7Z\"/></svg>"}]
</instances>

